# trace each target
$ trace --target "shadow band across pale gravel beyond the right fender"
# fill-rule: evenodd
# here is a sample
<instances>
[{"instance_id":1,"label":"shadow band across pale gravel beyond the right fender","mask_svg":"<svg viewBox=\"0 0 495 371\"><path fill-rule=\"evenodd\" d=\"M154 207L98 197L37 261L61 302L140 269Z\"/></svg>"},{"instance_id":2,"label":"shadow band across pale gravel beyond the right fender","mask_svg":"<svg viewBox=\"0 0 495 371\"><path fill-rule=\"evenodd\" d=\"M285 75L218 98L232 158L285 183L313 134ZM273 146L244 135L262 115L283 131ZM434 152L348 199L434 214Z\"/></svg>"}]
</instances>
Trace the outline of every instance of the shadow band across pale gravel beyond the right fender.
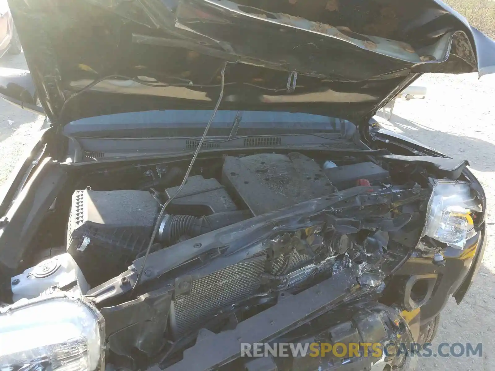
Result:
<instances>
[{"instance_id":1,"label":"shadow band across pale gravel beyond the right fender","mask_svg":"<svg viewBox=\"0 0 495 371\"><path fill-rule=\"evenodd\" d=\"M378 115L383 117L380 112ZM393 114L388 121L411 139L426 144L452 158L468 160L475 170L495 171L495 145L488 141L438 132L396 114ZM476 155L473 156L473 153ZM489 154L488 158L486 154Z\"/></svg>"}]
</instances>

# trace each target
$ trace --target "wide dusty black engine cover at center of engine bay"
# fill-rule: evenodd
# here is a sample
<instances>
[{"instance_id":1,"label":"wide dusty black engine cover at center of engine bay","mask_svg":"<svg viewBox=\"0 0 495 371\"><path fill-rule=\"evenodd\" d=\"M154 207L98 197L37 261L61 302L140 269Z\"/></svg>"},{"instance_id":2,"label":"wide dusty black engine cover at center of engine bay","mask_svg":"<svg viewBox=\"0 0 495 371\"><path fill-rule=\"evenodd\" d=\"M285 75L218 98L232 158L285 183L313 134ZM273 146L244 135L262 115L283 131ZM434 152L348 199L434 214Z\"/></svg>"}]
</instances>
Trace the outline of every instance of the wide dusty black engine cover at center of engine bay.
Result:
<instances>
[{"instance_id":1,"label":"wide dusty black engine cover at center of engine bay","mask_svg":"<svg viewBox=\"0 0 495 371\"><path fill-rule=\"evenodd\" d=\"M335 191L320 166L298 152L226 156L222 183L236 192L254 215Z\"/></svg>"}]
</instances>

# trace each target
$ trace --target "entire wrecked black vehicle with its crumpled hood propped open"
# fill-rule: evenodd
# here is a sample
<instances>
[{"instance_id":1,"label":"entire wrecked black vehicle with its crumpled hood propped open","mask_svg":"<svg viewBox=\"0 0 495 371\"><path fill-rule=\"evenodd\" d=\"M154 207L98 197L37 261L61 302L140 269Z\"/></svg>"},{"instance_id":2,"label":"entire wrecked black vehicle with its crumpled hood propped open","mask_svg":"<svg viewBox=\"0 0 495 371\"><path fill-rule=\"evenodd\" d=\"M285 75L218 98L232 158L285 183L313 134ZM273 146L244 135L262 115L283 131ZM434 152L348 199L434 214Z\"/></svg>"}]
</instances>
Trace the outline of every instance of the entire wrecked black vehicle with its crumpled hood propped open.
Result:
<instances>
[{"instance_id":1,"label":"entire wrecked black vehicle with its crumpled hood propped open","mask_svg":"<svg viewBox=\"0 0 495 371\"><path fill-rule=\"evenodd\" d=\"M413 369L364 344L431 340L486 198L368 124L494 41L436 0L9 3L53 127L0 203L0 369ZM284 342L359 346L242 357Z\"/></svg>"}]
</instances>

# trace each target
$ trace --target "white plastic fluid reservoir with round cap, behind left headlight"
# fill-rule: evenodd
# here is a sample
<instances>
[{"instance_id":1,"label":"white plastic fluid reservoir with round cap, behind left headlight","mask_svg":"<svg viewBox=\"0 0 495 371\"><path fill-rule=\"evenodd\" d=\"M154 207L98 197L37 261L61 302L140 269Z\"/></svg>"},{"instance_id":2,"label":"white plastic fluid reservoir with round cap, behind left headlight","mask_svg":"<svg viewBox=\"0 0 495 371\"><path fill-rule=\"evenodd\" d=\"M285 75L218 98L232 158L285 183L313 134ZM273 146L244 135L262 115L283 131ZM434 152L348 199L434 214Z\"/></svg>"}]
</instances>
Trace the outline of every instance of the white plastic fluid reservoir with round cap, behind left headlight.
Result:
<instances>
[{"instance_id":1,"label":"white plastic fluid reservoir with round cap, behind left headlight","mask_svg":"<svg viewBox=\"0 0 495 371\"><path fill-rule=\"evenodd\" d=\"M53 286L83 295L90 288L77 263L67 253L44 260L36 267L12 277L11 286L14 302L22 298L35 298Z\"/></svg>"}]
</instances>

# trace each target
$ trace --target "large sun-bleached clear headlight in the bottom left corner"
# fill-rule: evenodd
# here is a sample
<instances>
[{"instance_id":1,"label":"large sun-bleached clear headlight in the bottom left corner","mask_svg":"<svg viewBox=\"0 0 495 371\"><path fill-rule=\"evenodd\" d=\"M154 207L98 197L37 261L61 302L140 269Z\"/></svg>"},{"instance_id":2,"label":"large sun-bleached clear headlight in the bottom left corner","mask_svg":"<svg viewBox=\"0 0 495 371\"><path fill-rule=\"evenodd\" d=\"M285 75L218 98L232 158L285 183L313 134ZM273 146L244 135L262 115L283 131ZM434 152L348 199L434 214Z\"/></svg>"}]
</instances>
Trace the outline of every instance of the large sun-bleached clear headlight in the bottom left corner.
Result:
<instances>
[{"instance_id":1,"label":"large sun-bleached clear headlight in the bottom left corner","mask_svg":"<svg viewBox=\"0 0 495 371\"><path fill-rule=\"evenodd\" d=\"M1 371L101 370L103 340L103 318L81 299L46 296L0 309Z\"/></svg>"}]
</instances>

